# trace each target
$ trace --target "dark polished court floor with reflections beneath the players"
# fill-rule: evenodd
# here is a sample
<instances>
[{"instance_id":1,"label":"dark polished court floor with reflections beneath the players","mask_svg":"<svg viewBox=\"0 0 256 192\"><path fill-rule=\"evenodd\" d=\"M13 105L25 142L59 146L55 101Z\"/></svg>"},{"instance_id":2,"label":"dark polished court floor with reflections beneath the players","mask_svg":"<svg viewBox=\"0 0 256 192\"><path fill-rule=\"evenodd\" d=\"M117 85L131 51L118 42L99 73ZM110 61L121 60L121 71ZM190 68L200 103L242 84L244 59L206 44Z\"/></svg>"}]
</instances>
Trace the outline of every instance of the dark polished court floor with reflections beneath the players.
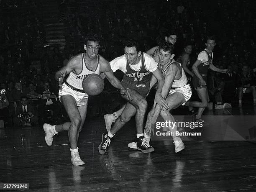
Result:
<instances>
[{"instance_id":1,"label":"dark polished court floor with reflections beneath the players","mask_svg":"<svg viewBox=\"0 0 256 192\"><path fill-rule=\"evenodd\" d=\"M208 111L205 115L256 115L252 106ZM29 183L31 191L256 191L255 141L152 141L143 154L127 147L135 137L134 120L111 140L108 153L98 145L104 120L85 122L79 138L84 166L72 166L67 133L44 141L41 126L0 129L1 183ZM253 134L253 133L252 133Z\"/></svg>"}]
</instances>

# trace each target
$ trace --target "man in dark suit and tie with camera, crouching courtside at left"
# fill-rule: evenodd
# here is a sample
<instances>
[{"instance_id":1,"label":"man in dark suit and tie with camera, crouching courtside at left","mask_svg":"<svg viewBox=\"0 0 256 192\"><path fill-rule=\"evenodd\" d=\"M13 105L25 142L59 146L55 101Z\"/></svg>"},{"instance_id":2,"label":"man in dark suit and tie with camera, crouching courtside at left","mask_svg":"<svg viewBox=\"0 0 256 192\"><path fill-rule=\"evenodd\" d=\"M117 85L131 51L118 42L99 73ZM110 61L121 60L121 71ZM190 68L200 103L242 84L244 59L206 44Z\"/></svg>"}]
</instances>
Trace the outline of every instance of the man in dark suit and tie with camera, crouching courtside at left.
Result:
<instances>
[{"instance_id":1,"label":"man in dark suit and tie with camera, crouching courtside at left","mask_svg":"<svg viewBox=\"0 0 256 192\"><path fill-rule=\"evenodd\" d=\"M26 96L20 98L21 105L16 109L13 122L15 126L31 126L38 124L38 116L32 105L28 104Z\"/></svg>"}]
</instances>

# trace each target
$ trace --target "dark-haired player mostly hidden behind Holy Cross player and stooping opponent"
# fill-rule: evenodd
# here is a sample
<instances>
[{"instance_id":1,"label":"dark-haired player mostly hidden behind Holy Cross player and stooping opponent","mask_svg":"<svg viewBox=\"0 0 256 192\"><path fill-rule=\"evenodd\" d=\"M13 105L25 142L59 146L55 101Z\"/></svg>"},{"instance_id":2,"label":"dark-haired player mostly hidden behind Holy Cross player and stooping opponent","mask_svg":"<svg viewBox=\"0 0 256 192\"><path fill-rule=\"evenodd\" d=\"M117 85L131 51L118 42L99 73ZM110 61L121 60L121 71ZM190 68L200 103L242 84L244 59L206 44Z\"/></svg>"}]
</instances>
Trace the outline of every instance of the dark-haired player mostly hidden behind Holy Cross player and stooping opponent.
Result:
<instances>
[{"instance_id":1,"label":"dark-haired player mostly hidden behind Holy Cross player and stooping opponent","mask_svg":"<svg viewBox=\"0 0 256 192\"><path fill-rule=\"evenodd\" d=\"M161 41L164 41L164 42L168 42L168 43L171 43L174 45L177 41L177 35L174 31L167 31L166 34L164 35L164 40L159 38L158 41L159 41L159 44L161 44ZM155 47L149 49L148 51L146 51L146 54L153 57L157 63L159 62L159 46L155 46ZM116 111L112 114L104 115L107 131L110 130L112 123L121 115L124 108L125 108L125 105L122 108L120 108L118 111Z\"/></svg>"}]
</instances>

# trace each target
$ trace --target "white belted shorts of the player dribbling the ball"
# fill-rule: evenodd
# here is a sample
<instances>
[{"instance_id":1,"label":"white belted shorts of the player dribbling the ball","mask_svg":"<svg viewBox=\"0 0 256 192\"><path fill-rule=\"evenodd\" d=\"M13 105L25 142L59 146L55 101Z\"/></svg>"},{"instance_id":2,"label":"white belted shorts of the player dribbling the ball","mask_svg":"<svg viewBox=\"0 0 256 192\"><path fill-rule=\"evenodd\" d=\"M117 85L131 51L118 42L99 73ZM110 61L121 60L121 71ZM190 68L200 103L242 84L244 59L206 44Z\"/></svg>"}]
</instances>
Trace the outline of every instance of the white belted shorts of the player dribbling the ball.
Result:
<instances>
[{"instance_id":1,"label":"white belted shorts of the player dribbling the ball","mask_svg":"<svg viewBox=\"0 0 256 192\"><path fill-rule=\"evenodd\" d=\"M86 93L74 91L70 87L68 87L66 83L63 83L61 85L61 88L62 90L59 90L59 99L63 95L72 95L72 97L74 97L74 99L77 102L77 107L82 105L87 105L89 95L87 95Z\"/></svg>"}]
</instances>

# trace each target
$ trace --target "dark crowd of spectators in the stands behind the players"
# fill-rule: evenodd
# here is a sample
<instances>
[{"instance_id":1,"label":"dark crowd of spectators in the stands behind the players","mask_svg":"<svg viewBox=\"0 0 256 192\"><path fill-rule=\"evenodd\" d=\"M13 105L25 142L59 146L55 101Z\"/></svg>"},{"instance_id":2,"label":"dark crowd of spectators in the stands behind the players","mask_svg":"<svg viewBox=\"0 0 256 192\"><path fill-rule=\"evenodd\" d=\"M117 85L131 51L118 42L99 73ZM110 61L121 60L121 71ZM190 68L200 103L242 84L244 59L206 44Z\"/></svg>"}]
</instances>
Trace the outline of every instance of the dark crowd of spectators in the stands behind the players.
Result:
<instances>
[{"instance_id":1,"label":"dark crowd of spectators in the stands behind the players","mask_svg":"<svg viewBox=\"0 0 256 192\"><path fill-rule=\"evenodd\" d=\"M230 73L209 72L207 84L212 98L221 94L221 101L227 102L239 90L255 90L256 18L252 0L60 0L59 17L67 26L64 48L46 45L43 19L36 11L41 3L0 0L0 8L5 10L0 15L0 82L1 89L6 90L9 104L5 108L10 116L16 117L15 109L24 95L28 99L40 97L49 85L51 95L58 95L54 72L70 57L84 52L84 36L90 32L100 35L100 54L110 61L123 54L123 42L128 38L138 38L142 51L146 51L158 44L166 30L173 30L178 37L176 55L182 54L185 43L193 46L190 67L205 48L205 36L215 34L213 62ZM23 11L15 13L14 9ZM31 67L33 62L40 65L40 71ZM38 110L45 103L30 105Z\"/></svg>"}]
</instances>

